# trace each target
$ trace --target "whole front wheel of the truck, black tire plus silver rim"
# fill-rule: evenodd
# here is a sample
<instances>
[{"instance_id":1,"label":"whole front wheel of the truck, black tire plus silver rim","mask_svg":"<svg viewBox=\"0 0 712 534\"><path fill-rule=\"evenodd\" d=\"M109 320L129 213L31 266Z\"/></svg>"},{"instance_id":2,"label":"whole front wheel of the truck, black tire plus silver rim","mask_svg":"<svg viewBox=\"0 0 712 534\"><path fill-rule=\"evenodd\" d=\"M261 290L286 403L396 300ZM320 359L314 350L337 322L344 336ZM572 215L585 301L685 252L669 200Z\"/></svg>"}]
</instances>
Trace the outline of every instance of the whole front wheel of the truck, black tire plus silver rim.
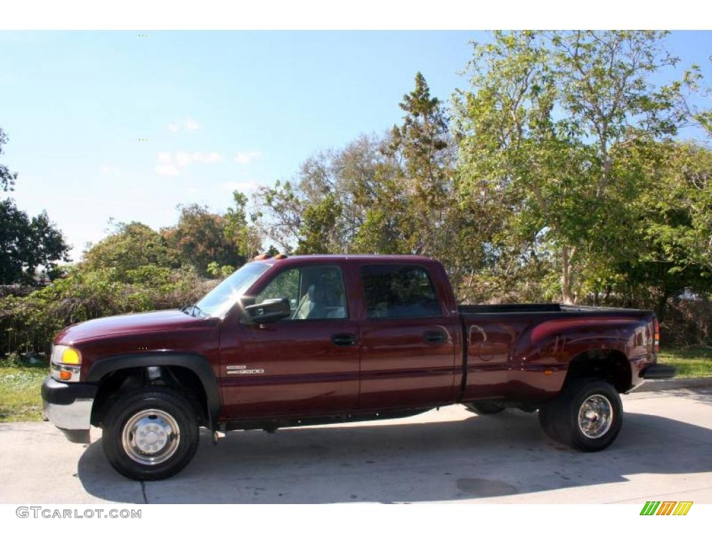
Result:
<instances>
[{"instance_id":1,"label":"whole front wheel of the truck, black tire plus silver rim","mask_svg":"<svg viewBox=\"0 0 712 534\"><path fill-rule=\"evenodd\" d=\"M198 448L197 414L173 389L140 389L109 409L102 442L109 463L123 476L169 478L189 464Z\"/></svg>"}]
</instances>

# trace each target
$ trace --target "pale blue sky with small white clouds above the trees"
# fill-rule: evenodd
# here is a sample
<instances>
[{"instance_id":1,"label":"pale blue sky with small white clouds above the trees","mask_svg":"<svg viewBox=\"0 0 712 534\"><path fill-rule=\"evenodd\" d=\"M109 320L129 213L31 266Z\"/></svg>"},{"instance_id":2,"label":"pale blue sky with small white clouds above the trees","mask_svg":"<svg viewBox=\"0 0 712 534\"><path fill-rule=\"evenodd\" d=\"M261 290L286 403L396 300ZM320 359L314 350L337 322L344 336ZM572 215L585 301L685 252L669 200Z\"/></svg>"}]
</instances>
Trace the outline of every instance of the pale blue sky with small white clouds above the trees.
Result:
<instances>
[{"instance_id":1,"label":"pale blue sky with small white clouds above the trees","mask_svg":"<svg viewBox=\"0 0 712 534\"><path fill-rule=\"evenodd\" d=\"M175 224L178 204L215 211L234 189L293 177L319 150L402 117L421 71L449 102L476 31L0 31L2 162L20 209L43 209L78 260L109 219ZM712 80L712 32L667 38ZM683 134L685 135L685 134ZM689 135L693 136L691 132Z\"/></svg>"}]
</instances>

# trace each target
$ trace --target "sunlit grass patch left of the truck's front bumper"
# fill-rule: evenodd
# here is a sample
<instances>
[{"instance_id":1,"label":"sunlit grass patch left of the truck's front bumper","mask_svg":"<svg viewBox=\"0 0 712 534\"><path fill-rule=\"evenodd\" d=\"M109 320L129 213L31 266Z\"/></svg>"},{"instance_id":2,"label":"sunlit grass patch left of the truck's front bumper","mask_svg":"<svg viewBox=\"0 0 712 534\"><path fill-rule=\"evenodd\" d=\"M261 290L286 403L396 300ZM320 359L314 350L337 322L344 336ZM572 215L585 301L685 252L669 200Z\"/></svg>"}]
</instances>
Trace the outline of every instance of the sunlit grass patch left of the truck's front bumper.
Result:
<instances>
[{"instance_id":1,"label":"sunlit grass patch left of the truck's front bumper","mask_svg":"<svg viewBox=\"0 0 712 534\"><path fill-rule=\"evenodd\" d=\"M40 387L47 366L5 367L4 362L0 366L0 423L42 421Z\"/></svg>"}]
</instances>

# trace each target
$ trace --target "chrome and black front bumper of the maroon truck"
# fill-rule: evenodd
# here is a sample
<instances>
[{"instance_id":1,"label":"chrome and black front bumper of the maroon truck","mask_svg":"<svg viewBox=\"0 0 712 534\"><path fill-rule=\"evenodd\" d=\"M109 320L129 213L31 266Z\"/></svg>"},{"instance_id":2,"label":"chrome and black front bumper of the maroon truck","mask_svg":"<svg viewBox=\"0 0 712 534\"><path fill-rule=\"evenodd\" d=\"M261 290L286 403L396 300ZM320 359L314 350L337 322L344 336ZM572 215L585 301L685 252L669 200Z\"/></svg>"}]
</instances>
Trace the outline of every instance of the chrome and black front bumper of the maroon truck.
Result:
<instances>
[{"instance_id":1,"label":"chrome and black front bumper of the maroon truck","mask_svg":"<svg viewBox=\"0 0 712 534\"><path fill-rule=\"evenodd\" d=\"M97 389L97 384L59 382L52 377L42 384L47 418L73 443L89 443L91 409Z\"/></svg>"}]
</instances>

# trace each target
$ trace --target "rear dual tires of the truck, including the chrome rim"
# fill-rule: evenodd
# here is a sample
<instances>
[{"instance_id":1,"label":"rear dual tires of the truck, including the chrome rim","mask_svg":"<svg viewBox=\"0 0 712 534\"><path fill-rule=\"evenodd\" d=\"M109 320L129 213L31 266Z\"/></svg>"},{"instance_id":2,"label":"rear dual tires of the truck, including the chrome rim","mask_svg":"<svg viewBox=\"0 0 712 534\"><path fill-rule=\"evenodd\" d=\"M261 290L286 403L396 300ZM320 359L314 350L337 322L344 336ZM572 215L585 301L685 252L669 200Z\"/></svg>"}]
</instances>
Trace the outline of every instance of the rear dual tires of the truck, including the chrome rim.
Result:
<instances>
[{"instance_id":1,"label":"rear dual tires of the truck, including the chrome rim","mask_svg":"<svg viewBox=\"0 0 712 534\"><path fill-rule=\"evenodd\" d=\"M623 405L608 382L576 380L539 409L539 422L555 441L585 452L602 451L618 436Z\"/></svg>"}]
</instances>

